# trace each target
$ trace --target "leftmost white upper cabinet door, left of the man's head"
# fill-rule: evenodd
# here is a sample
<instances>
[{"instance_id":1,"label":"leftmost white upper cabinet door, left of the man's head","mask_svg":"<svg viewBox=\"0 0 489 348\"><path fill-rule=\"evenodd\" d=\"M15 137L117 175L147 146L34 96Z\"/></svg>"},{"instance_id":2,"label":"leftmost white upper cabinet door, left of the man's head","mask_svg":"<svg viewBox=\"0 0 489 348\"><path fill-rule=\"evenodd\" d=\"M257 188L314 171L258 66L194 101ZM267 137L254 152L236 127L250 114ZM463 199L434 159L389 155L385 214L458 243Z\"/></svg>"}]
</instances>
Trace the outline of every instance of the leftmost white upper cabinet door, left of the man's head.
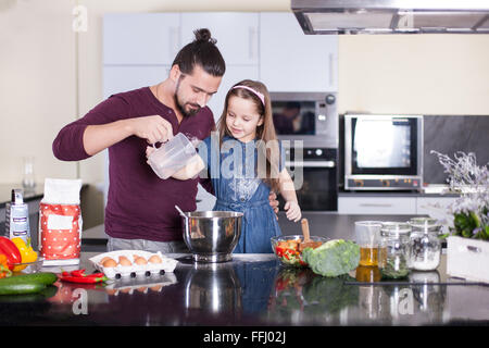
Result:
<instances>
[{"instance_id":1,"label":"leftmost white upper cabinet door, left of the man's head","mask_svg":"<svg viewBox=\"0 0 489 348\"><path fill-rule=\"evenodd\" d=\"M103 16L104 64L172 64L179 49L179 13Z\"/></svg>"}]
</instances>

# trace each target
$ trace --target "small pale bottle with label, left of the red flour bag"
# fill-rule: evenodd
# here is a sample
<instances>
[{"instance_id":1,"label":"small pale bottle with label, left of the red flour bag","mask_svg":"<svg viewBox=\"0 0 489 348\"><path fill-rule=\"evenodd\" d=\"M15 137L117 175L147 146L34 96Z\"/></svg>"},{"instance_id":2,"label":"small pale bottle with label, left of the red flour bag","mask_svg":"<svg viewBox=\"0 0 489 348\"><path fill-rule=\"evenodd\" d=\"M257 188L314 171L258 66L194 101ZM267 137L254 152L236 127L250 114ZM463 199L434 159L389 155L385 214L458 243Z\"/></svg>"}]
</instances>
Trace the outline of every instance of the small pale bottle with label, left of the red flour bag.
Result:
<instances>
[{"instance_id":1,"label":"small pale bottle with label, left of the red flour bag","mask_svg":"<svg viewBox=\"0 0 489 348\"><path fill-rule=\"evenodd\" d=\"M20 188L12 189L12 199L5 207L5 232L11 239L21 237L27 243L30 237L29 209Z\"/></svg>"}]
</instances>

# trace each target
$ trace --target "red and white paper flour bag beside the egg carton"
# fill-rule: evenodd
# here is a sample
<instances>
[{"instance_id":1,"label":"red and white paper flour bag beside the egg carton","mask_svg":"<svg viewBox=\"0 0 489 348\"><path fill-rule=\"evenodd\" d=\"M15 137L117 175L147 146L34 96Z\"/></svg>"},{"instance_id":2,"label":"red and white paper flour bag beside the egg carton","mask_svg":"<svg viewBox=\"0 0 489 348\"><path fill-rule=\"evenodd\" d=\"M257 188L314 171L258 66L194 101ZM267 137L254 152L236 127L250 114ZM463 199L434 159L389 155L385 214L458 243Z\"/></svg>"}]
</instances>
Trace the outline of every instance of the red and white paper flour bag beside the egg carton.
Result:
<instances>
[{"instance_id":1,"label":"red and white paper flour bag beside the egg carton","mask_svg":"<svg viewBox=\"0 0 489 348\"><path fill-rule=\"evenodd\" d=\"M39 206L39 251L45 265L79 263L80 179L46 178Z\"/></svg>"}]
</instances>

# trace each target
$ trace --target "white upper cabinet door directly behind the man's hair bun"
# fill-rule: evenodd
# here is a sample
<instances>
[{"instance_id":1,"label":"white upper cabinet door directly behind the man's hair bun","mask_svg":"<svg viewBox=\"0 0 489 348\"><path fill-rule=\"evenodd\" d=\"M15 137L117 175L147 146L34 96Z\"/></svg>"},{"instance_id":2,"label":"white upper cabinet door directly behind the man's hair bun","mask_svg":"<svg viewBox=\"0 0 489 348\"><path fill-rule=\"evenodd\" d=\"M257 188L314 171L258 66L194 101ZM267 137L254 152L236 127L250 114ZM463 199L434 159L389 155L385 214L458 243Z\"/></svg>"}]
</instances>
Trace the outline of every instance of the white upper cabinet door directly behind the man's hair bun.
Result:
<instances>
[{"instance_id":1,"label":"white upper cabinet door directly behind the man's hair bun","mask_svg":"<svg viewBox=\"0 0 489 348\"><path fill-rule=\"evenodd\" d=\"M195 38L193 30L209 28L226 65L258 64L259 14L253 12L196 12L181 14L181 42Z\"/></svg>"}]
</instances>

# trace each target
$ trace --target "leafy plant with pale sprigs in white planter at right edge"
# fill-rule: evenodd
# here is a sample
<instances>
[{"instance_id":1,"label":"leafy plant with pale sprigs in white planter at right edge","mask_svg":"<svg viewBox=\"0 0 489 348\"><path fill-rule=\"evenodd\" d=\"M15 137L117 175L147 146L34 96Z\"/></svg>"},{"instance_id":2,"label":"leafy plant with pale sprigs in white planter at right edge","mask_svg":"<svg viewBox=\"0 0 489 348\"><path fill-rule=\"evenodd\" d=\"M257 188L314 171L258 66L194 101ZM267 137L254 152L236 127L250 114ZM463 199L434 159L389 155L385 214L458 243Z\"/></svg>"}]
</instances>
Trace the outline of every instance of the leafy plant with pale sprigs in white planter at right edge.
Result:
<instances>
[{"instance_id":1,"label":"leafy plant with pale sprigs in white planter at right edge","mask_svg":"<svg viewBox=\"0 0 489 348\"><path fill-rule=\"evenodd\" d=\"M450 189L461 195L449 206L453 226L448 235L489 240L489 163L477 165L472 152L455 152L453 160L437 151L431 153L443 165Z\"/></svg>"}]
</instances>

